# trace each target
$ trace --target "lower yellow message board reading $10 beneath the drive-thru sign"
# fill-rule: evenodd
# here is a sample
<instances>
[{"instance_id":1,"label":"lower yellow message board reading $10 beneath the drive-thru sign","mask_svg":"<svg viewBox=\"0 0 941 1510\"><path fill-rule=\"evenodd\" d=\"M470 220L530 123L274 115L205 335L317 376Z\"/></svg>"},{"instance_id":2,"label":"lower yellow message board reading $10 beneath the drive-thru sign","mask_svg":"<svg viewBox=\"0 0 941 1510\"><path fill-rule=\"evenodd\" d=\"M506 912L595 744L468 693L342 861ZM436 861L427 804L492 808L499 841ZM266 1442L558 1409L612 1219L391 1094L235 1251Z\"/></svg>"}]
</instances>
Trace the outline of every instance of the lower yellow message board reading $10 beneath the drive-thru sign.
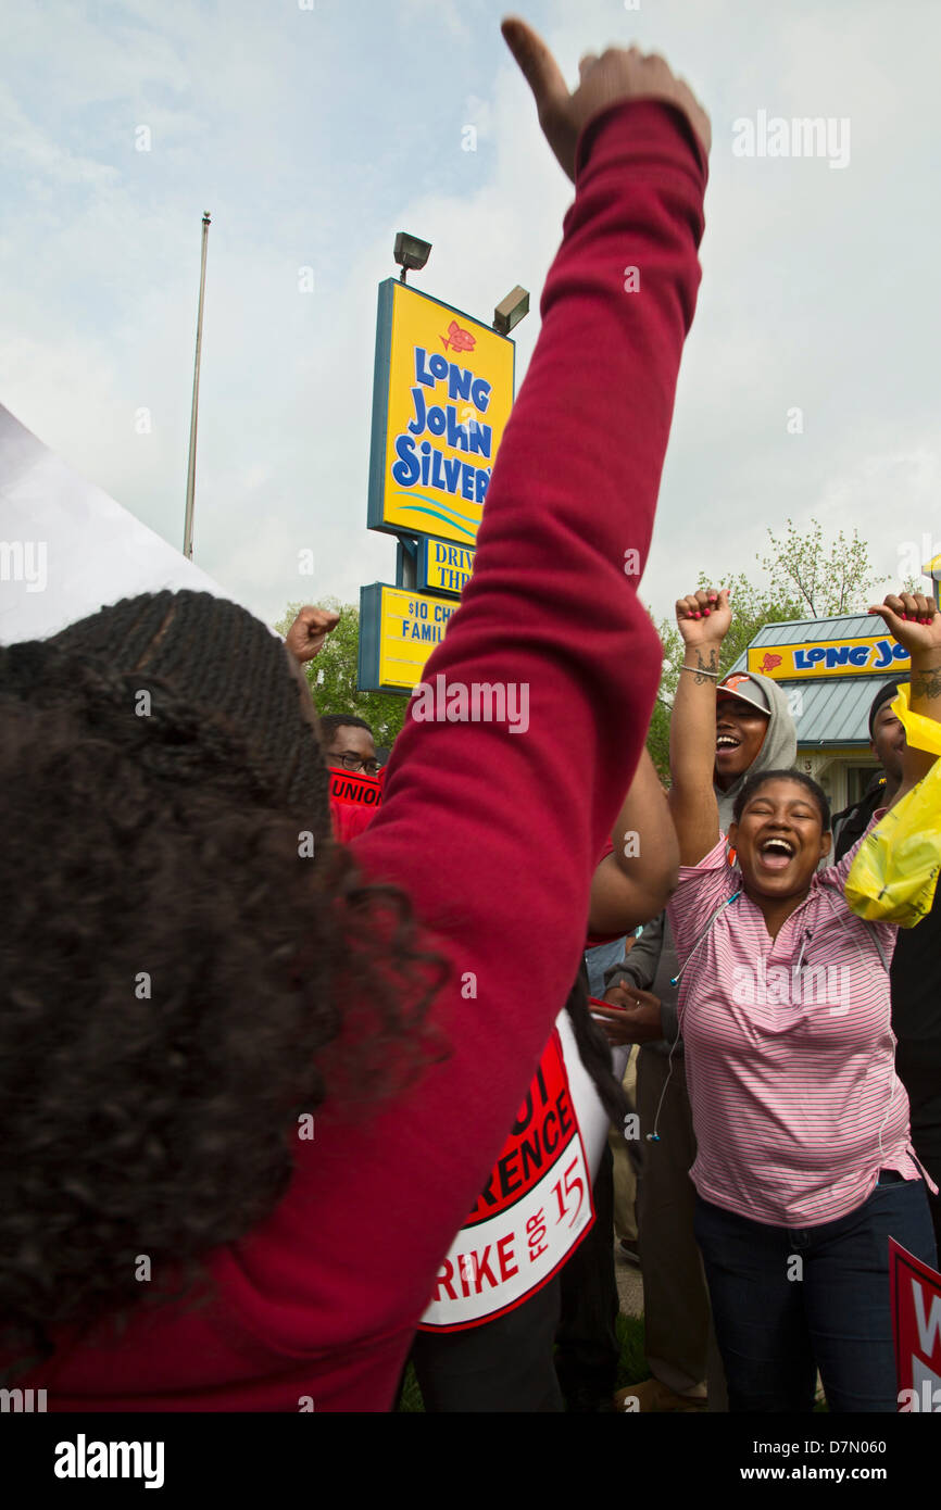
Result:
<instances>
[{"instance_id":1,"label":"lower yellow message board reading $10 beneath the drive-thru sign","mask_svg":"<svg viewBox=\"0 0 941 1510\"><path fill-rule=\"evenodd\" d=\"M361 587L359 687L411 692L456 607L453 598L432 598L381 581Z\"/></svg>"}]
</instances>

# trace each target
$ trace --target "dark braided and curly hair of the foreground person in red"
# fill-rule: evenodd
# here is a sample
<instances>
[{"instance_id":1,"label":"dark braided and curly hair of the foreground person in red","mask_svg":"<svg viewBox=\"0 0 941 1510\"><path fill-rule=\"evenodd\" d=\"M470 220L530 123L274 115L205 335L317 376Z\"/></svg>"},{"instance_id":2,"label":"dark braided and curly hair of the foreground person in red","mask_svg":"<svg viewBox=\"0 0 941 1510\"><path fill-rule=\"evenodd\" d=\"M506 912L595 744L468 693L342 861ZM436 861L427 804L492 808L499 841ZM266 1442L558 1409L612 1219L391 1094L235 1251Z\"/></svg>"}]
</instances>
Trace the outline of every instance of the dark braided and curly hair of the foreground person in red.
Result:
<instances>
[{"instance_id":1,"label":"dark braided and curly hair of the foreground person in red","mask_svg":"<svg viewBox=\"0 0 941 1510\"><path fill-rule=\"evenodd\" d=\"M202 593L0 649L3 1377L199 1299L329 1095L443 1052L444 960L329 837L284 646ZM150 1259L151 1284L139 1262Z\"/></svg>"}]
</instances>

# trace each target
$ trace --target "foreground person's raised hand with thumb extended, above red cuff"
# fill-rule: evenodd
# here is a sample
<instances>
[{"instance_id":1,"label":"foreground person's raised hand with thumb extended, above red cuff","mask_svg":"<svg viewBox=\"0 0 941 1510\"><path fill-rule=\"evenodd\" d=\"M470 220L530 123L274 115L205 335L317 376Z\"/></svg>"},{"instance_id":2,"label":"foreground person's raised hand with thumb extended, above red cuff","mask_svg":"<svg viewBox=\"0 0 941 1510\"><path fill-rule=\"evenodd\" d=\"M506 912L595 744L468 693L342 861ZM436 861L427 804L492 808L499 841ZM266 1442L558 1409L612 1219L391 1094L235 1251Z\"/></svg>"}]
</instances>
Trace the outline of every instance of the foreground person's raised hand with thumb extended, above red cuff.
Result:
<instances>
[{"instance_id":1,"label":"foreground person's raised hand with thumb extended, above red cuff","mask_svg":"<svg viewBox=\"0 0 941 1510\"><path fill-rule=\"evenodd\" d=\"M677 106L708 153L711 127L705 110L689 85L656 53L645 56L636 47L609 47L601 57L586 53L578 65L578 88L569 92L556 59L526 21L506 20L501 32L533 91L545 140L572 183L583 127L619 100L663 100Z\"/></svg>"}]
</instances>

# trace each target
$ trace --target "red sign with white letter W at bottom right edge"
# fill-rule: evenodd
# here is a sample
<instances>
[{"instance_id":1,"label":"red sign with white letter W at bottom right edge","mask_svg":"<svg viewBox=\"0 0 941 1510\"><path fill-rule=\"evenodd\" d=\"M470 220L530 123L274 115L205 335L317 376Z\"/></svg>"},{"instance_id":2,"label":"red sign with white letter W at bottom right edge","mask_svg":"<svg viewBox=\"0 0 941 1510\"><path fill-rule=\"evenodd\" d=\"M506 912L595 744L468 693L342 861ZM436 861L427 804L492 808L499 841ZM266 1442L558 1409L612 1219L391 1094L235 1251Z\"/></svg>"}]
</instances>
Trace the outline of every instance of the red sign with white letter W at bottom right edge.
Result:
<instances>
[{"instance_id":1,"label":"red sign with white letter W at bottom right edge","mask_svg":"<svg viewBox=\"0 0 941 1510\"><path fill-rule=\"evenodd\" d=\"M891 1237L888 1274L899 1410L941 1415L941 1274Z\"/></svg>"}]
</instances>

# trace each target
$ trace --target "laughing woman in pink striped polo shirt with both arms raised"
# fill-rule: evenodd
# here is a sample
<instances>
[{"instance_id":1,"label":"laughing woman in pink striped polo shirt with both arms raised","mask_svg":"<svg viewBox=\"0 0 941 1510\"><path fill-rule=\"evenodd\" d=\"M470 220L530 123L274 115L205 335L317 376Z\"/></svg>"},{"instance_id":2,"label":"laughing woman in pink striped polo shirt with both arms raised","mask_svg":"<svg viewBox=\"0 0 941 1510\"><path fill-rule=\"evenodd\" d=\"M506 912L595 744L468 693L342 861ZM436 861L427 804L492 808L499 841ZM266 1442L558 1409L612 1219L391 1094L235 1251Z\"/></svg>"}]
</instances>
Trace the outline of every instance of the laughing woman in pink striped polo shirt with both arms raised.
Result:
<instances>
[{"instance_id":1,"label":"laughing woman in pink striped polo shirt with both arms raised","mask_svg":"<svg viewBox=\"0 0 941 1510\"><path fill-rule=\"evenodd\" d=\"M941 615L921 595L879 609L912 660L911 707L941 720ZM843 886L826 796L764 772L736 802L728 844L713 790L728 592L677 602L686 654L671 726L680 954L698 1157L696 1240L733 1410L896 1410L888 1237L933 1264L908 1098L894 1069L894 927ZM906 750L905 794L932 757ZM882 811L873 823L882 817Z\"/></svg>"}]
</instances>

